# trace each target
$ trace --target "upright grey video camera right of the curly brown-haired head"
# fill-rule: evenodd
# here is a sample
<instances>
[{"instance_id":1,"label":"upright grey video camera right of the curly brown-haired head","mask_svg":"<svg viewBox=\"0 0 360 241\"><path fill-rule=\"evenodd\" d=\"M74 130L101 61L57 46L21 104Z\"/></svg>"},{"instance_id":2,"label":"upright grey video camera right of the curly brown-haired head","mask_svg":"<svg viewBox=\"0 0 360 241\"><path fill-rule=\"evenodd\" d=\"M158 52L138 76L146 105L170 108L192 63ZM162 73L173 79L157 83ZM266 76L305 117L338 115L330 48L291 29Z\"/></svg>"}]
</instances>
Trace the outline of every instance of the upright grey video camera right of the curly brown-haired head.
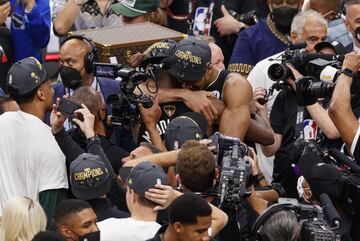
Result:
<instances>
[{"instance_id":1,"label":"upright grey video camera right of the curly brown-haired head","mask_svg":"<svg viewBox=\"0 0 360 241\"><path fill-rule=\"evenodd\" d=\"M239 138L216 132L213 143L217 143L217 163L221 167L218 194L223 210L236 209L241 198L250 196L251 164L244 157L248 153L246 145Z\"/></svg>"}]
</instances>

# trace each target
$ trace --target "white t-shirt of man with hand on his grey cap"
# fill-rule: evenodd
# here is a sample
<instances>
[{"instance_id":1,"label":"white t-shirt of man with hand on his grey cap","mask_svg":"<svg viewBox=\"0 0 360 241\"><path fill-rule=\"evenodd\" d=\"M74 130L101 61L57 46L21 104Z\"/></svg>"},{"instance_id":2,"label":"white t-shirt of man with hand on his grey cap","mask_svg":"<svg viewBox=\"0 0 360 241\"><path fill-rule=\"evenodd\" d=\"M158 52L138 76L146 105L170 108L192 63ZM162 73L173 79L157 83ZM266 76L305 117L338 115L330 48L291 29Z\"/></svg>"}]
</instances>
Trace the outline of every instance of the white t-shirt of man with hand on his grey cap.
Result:
<instances>
[{"instance_id":1,"label":"white t-shirt of man with hand on his grey cap","mask_svg":"<svg viewBox=\"0 0 360 241\"><path fill-rule=\"evenodd\" d=\"M161 225L155 221L108 218L98 224L101 241L144 241L155 236Z\"/></svg>"}]
</instances>

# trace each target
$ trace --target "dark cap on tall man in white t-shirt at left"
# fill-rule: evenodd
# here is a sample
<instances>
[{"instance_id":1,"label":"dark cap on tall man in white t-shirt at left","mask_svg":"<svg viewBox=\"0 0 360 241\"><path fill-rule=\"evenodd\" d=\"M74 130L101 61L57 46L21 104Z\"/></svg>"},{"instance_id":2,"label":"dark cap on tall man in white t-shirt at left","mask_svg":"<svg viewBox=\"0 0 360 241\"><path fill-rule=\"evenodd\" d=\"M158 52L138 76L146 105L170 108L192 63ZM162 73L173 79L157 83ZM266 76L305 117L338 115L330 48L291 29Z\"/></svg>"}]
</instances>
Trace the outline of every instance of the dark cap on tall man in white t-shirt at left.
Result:
<instances>
[{"instance_id":1,"label":"dark cap on tall man in white t-shirt at left","mask_svg":"<svg viewBox=\"0 0 360 241\"><path fill-rule=\"evenodd\" d=\"M19 96L31 93L46 80L46 71L34 57L22 59L11 66L7 75L8 87Z\"/></svg>"}]
</instances>

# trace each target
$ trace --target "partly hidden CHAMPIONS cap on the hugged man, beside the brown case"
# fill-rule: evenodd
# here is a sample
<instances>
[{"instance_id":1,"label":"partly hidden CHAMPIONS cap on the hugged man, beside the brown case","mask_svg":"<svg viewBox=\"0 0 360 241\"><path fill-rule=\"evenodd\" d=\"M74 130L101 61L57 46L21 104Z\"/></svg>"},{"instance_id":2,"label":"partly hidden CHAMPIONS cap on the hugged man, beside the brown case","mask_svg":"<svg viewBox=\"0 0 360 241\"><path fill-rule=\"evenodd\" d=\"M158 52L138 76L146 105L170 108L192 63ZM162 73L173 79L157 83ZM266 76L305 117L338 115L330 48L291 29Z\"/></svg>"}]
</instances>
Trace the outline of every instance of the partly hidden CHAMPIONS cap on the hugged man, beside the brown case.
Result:
<instances>
[{"instance_id":1,"label":"partly hidden CHAMPIONS cap on the hugged man, beside the brown case","mask_svg":"<svg viewBox=\"0 0 360 241\"><path fill-rule=\"evenodd\" d=\"M148 64L161 64L162 60L173 56L176 42L172 39L156 42L145 51L145 59L140 63L141 68Z\"/></svg>"}]
</instances>

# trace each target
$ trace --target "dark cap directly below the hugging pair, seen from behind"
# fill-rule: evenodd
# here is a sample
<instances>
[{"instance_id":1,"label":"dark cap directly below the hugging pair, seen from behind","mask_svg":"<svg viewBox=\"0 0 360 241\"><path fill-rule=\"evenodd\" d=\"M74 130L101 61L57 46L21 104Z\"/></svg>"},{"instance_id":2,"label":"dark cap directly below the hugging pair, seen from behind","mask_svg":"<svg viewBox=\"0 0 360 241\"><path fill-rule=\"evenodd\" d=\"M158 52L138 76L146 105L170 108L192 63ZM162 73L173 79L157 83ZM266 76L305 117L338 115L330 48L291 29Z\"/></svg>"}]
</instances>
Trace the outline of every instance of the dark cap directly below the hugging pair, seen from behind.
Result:
<instances>
[{"instance_id":1,"label":"dark cap directly below the hugging pair, seen from behind","mask_svg":"<svg viewBox=\"0 0 360 241\"><path fill-rule=\"evenodd\" d=\"M167 150L177 150L188 140L201 140L206 134L207 122L201 113L186 112L172 121L165 130Z\"/></svg>"}]
</instances>

